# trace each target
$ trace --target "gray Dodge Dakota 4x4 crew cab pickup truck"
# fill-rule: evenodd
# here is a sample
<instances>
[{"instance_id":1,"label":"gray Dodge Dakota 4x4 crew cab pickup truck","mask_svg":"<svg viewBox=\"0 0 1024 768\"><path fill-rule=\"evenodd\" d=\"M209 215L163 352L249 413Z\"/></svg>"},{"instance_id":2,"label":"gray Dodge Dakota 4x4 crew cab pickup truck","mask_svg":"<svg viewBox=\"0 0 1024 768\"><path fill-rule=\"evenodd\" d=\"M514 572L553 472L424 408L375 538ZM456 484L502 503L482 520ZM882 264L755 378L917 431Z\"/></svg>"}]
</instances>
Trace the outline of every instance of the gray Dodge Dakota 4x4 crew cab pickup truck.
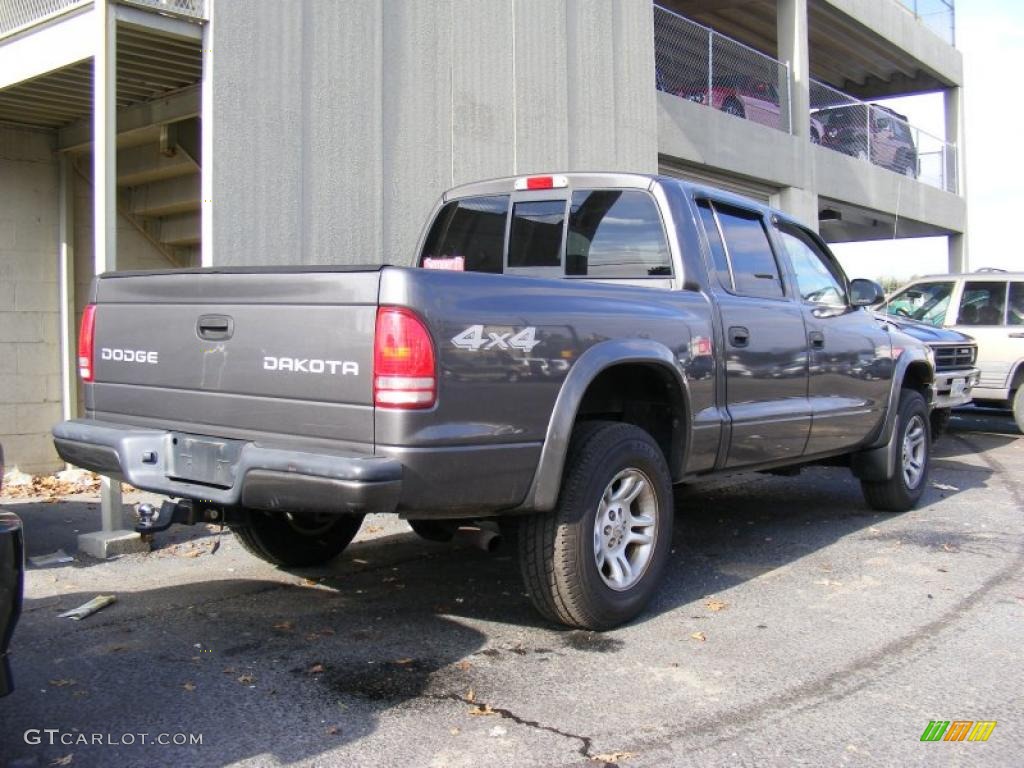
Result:
<instances>
[{"instance_id":1,"label":"gray Dodge Dakota 4x4 crew cab pickup truck","mask_svg":"<svg viewBox=\"0 0 1024 768\"><path fill-rule=\"evenodd\" d=\"M659 176L497 179L442 197L418 259L99 276L57 451L171 497L142 529L226 522L282 566L369 512L428 538L498 518L540 612L589 629L657 589L673 484L838 463L874 509L921 498L932 353L778 211Z\"/></svg>"}]
</instances>

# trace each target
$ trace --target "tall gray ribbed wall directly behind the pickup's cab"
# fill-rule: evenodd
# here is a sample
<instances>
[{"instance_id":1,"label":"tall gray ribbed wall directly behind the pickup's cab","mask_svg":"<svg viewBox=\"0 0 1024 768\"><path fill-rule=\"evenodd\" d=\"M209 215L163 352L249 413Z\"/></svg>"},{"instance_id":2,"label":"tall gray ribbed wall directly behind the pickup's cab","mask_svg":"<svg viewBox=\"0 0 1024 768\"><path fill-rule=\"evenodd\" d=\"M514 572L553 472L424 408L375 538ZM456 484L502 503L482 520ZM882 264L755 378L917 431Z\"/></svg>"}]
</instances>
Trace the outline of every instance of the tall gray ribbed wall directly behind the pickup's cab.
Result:
<instances>
[{"instance_id":1,"label":"tall gray ribbed wall directly behind the pickup's cab","mask_svg":"<svg viewBox=\"0 0 1024 768\"><path fill-rule=\"evenodd\" d=\"M649 0L213 12L213 263L409 263L454 184L657 167Z\"/></svg>"}]
</instances>

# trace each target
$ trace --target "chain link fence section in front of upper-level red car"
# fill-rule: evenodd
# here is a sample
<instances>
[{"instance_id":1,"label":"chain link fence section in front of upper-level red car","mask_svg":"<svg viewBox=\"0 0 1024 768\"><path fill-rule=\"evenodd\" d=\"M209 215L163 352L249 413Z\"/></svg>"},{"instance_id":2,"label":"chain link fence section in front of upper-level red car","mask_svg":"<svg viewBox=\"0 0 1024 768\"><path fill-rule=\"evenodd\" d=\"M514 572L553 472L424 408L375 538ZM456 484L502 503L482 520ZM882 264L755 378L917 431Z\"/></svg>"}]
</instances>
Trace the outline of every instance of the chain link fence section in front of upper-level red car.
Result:
<instances>
[{"instance_id":1,"label":"chain link fence section in front of upper-level red car","mask_svg":"<svg viewBox=\"0 0 1024 768\"><path fill-rule=\"evenodd\" d=\"M790 133L788 68L731 38L654 6L658 90Z\"/></svg>"}]
</instances>

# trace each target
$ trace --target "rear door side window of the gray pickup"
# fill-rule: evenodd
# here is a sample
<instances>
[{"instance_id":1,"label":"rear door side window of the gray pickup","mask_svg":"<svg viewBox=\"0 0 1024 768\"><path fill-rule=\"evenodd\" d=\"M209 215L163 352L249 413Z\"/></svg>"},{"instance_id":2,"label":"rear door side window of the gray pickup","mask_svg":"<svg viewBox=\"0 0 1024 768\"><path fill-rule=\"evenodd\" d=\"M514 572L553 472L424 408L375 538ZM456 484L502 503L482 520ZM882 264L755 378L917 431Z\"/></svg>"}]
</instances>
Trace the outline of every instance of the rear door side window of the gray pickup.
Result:
<instances>
[{"instance_id":1,"label":"rear door side window of the gray pickup","mask_svg":"<svg viewBox=\"0 0 1024 768\"><path fill-rule=\"evenodd\" d=\"M761 215L718 204L714 209L732 278L732 285L727 283L726 288L741 296L781 298L782 279Z\"/></svg>"}]
</instances>

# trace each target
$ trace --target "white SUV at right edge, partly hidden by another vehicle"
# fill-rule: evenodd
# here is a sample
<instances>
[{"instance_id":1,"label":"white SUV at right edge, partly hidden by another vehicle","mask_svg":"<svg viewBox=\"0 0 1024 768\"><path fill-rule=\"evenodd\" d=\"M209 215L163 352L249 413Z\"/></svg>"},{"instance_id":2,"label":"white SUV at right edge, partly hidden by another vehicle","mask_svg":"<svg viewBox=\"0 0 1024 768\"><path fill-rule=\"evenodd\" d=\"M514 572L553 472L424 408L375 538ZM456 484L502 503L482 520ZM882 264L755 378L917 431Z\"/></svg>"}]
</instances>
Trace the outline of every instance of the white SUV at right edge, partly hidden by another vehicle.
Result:
<instances>
[{"instance_id":1,"label":"white SUV at right edge, partly hidden by another vehicle","mask_svg":"<svg viewBox=\"0 0 1024 768\"><path fill-rule=\"evenodd\" d=\"M1024 272L920 278L893 294L885 311L973 336L981 372L975 402L1013 409L1024 431Z\"/></svg>"}]
</instances>

